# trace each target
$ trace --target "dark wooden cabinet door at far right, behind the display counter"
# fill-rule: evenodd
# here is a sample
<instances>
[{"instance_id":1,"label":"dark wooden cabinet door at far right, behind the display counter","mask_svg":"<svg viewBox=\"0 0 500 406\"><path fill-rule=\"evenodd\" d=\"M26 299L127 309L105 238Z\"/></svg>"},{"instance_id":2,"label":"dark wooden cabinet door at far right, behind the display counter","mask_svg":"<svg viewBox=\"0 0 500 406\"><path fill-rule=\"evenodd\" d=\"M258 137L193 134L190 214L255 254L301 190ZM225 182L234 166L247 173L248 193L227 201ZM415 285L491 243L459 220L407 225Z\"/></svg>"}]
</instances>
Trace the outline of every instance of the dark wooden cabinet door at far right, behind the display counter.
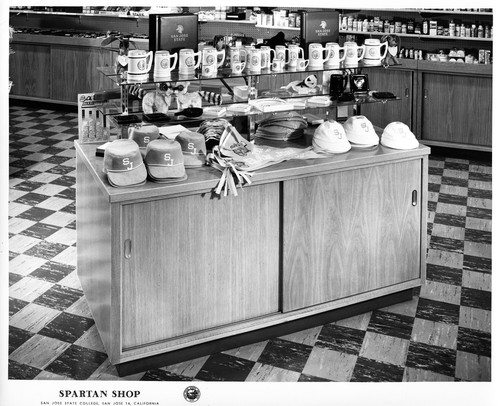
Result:
<instances>
[{"instance_id":1,"label":"dark wooden cabinet door at far right, behind the display counter","mask_svg":"<svg viewBox=\"0 0 500 406\"><path fill-rule=\"evenodd\" d=\"M422 74L422 139L492 145L492 79Z\"/></svg>"}]
</instances>

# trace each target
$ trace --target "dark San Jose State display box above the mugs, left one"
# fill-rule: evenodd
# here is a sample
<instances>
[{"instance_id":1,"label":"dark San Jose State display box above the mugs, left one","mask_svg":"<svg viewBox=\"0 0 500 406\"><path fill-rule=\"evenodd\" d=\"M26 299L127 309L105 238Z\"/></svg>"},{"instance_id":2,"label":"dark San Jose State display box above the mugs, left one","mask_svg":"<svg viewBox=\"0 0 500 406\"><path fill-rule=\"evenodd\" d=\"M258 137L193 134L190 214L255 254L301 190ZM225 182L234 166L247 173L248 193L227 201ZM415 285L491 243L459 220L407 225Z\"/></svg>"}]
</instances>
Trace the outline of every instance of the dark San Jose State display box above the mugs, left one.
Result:
<instances>
[{"instance_id":1,"label":"dark San Jose State display box above the mugs, left one","mask_svg":"<svg viewBox=\"0 0 500 406\"><path fill-rule=\"evenodd\" d=\"M149 50L179 52L198 48L198 16L183 14L149 15Z\"/></svg>"}]
</instances>

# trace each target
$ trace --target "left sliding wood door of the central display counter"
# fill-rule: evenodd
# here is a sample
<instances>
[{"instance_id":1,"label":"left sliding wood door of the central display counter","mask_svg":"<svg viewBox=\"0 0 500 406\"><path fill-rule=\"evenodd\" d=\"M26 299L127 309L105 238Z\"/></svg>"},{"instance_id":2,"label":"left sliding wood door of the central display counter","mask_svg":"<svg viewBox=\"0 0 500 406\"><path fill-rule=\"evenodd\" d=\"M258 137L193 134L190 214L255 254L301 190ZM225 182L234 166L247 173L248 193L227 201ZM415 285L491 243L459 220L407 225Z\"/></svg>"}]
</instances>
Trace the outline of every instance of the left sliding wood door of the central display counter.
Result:
<instances>
[{"instance_id":1,"label":"left sliding wood door of the central display counter","mask_svg":"<svg viewBox=\"0 0 500 406\"><path fill-rule=\"evenodd\" d=\"M124 350L278 311L278 188L123 206Z\"/></svg>"}]
</instances>

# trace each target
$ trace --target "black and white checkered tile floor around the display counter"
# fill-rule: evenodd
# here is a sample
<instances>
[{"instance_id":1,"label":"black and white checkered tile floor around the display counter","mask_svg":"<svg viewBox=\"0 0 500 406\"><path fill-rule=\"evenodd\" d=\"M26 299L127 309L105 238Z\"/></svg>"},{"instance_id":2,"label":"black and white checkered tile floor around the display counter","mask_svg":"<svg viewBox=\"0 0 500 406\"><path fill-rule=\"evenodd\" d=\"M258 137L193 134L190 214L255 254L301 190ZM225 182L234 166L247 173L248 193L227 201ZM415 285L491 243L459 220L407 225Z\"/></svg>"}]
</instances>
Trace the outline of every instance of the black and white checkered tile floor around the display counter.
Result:
<instances>
[{"instance_id":1,"label":"black and white checkered tile floor around the display counter","mask_svg":"<svg viewBox=\"0 0 500 406\"><path fill-rule=\"evenodd\" d=\"M11 379L490 381L491 162L431 156L413 300L118 378L76 275L77 115L11 106Z\"/></svg>"}]
</instances>

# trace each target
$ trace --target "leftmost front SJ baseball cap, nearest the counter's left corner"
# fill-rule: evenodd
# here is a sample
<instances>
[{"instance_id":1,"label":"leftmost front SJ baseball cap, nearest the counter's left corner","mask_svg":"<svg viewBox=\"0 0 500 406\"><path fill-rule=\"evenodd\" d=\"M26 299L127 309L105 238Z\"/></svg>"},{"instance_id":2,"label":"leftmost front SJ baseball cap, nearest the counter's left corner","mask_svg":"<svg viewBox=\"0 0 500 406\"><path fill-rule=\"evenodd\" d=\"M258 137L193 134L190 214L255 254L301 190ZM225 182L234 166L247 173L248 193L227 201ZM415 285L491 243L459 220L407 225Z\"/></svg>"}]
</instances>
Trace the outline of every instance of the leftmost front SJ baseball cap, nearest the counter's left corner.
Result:
<instances>
[{"instance_id":1,"label":"leftmost front SJ baseball cap, nearest the counter's left corner","mask_svg":"<svg viewBox=\"0 0 500 406\"><path fill-rule=\"evenodd\" d=\"M112 141L106 147L103 171L114 187L142 185L147 178L139 146L129 139Z\"/></svg>"}]
</instances>

